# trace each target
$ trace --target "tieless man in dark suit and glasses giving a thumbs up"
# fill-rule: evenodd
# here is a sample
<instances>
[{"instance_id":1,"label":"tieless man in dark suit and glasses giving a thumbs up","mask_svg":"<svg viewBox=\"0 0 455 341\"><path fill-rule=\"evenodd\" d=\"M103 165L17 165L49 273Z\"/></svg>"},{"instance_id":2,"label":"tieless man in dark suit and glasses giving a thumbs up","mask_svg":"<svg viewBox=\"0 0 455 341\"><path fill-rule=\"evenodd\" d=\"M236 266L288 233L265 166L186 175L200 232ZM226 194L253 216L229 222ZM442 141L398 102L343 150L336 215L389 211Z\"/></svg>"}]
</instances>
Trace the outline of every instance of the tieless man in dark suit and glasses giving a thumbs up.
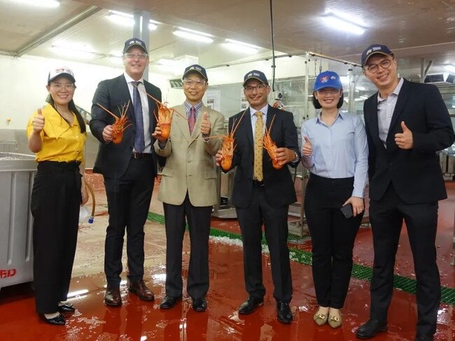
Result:
<instances>
[{"instance_id":1,"label":"tieless man in dark suit and glasses giving a thumbs up","mask_svg":"<svg viewBox=\"0 0 455 341\"><path fill-rule=\"evenodd\" d=\"M368 339L386 331L404 220L417 282L415 340L433 340L441 295L435 249L437 201L447 198L437 151L454 142L454 130L438 89L398 78L397 61L385 45L366 48L361 62L379 91L363 106L370 150L374 268L370 319L356 336Z\"/></svg>"}]
</instances>

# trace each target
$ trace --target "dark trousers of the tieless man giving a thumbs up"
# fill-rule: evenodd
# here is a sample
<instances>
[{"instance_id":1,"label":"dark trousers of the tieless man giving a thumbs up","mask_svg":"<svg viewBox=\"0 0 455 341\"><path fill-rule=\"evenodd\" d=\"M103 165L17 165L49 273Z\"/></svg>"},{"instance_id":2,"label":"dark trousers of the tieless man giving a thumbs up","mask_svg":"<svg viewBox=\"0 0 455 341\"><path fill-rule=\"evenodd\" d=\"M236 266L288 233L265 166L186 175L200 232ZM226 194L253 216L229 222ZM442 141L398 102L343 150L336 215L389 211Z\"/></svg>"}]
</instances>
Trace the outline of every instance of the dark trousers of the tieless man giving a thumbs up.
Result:
<instances>
[{"instance_id":1,"label":"dark trousers of the tieless man giving a thumbs up","mask_svg":"<svg viewBox=\"0 0 455 341\"><path fill-rule=\"evenodd\" d=\"M416 184L418 185L418 184ZM386 321L393 293L393 268L403 219L416 273L417 335L436 332L441 284L436 264L437 201L408 204L389 185L379 201L370 201L374 268L371 281L371 317Z\"/></svg>"}]
</instances>

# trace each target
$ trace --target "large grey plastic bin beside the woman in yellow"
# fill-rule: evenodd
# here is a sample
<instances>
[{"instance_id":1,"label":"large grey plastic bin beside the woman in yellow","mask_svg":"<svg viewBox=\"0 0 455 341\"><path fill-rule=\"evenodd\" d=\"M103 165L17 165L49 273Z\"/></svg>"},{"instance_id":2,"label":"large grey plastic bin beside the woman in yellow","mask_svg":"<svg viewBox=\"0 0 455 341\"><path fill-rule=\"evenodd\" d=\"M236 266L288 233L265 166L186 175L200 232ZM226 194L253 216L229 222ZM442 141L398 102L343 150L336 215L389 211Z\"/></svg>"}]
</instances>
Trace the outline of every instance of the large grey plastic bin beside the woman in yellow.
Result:
<instances>
[{"instance_id":1,"label":"large grey plastic bin beside the woman in yellow","mask_svg":"<svg viewBox=\"0 0 455 341\"><path fill-rule=\"evenodd\" d=\"M0 289L33 280L34 155L0 152Z\"/></svg>"}]
</instances>

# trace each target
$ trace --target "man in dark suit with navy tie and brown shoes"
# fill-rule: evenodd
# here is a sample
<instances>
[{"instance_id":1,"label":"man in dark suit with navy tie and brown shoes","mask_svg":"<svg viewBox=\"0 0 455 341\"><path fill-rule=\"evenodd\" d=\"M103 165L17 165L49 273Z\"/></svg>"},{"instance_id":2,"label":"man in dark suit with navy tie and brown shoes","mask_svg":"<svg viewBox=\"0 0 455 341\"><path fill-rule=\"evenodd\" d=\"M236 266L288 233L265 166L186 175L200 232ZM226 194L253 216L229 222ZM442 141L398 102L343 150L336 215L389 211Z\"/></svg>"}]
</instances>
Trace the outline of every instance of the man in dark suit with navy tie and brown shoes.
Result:
<instances>
[{"instance_id":1,"label":"man in dark suit with navy tie and brown shoes","mask_svg":"<svg viewBox=\"0 0 455 341\"><path fill-rule=\"evenodd\" d=\"M90 129L99 140L94 173L104 175L109 210L104 247L104 272L107 287L104 303L119 306L120 273L125 228L127 231L128 290L141 300L153 300L153 292L144 283L144 224L148 215L157 158L153 150L157 105L147 94L161 101L158 87L147 82L143 73L148 65L146 44L132 38L123 49L125 73L99 83L92 101ZM120 117L129 103L125 129L120 143L114 143L116 119L101 106ZM117 141L116 141L117 142Z\"/></svg>"}]
</instances>

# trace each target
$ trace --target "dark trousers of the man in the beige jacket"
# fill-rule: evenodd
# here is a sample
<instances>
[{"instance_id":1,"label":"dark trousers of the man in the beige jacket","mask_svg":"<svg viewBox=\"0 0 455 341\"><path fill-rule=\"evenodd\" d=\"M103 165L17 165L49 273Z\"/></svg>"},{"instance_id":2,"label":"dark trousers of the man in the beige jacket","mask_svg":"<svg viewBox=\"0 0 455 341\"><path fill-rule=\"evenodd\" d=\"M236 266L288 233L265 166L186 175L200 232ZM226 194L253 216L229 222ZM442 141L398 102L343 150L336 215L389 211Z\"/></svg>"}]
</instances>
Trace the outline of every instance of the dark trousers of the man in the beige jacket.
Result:
<instances>
[{"instance_id":1,"label":"dark trousers of the man in the beige jacket","mask_svg":"<svg viewBox=\"0 0 455 341\"><path fill-rule=\"evenodd\" d=\"M179 297L183 291L182 245L186 219L190 230L188 295L204 298L209 291L209 235L212 206L191 205L188 193L181 205L163 203L166 226L166 295Z\"/></svg>"}]
</instances>

